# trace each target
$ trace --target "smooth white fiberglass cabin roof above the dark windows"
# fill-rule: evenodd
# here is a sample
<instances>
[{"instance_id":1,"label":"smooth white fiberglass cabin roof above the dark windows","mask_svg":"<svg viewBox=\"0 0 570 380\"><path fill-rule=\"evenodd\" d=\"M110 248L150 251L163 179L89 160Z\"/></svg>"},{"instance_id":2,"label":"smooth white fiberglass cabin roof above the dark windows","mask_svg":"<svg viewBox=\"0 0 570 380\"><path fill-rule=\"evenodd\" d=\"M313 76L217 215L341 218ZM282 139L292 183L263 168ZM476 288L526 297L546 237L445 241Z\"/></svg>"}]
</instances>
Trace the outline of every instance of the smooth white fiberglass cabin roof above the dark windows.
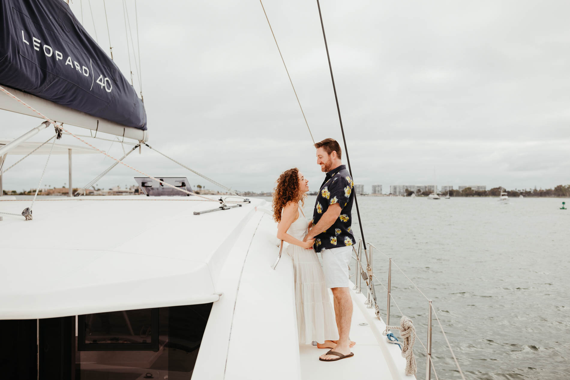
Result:
<instances>
[{"instance_id":1,"label":"smooth white fiberglass cabin roof above the dark windows","mask_svg":"<svg viewBox=\"0 0 570 380\"><path fill-rule=\"evenodd\" d=\"M219 205L196 199L37 199L33 220L3 215L0 319L218 300L228 251L264 201L193 215ZM0 198L0 210L21 213L30 203Z\"/></svg>"}]
</instances>

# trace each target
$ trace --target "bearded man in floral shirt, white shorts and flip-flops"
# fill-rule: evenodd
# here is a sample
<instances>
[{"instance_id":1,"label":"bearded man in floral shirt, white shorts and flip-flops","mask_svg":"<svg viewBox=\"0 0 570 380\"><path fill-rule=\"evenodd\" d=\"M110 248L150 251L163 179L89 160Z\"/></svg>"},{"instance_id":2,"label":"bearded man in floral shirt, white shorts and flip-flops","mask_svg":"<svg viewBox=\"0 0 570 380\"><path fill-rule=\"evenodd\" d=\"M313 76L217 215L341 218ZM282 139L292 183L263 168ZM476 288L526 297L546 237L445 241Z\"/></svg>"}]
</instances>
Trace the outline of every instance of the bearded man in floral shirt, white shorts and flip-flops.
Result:
<instances>
[{"instance_id":1,"label":"bearded man in floral shirt, white shorts and flip-flops","mask_svg":"<svg viewBox=\"0 0 570 380\"><path fill-rule=\"evenodd\" d=\"M315 144L317 164L327 173L321 185L310 230L303 241L315 238L315 252L321 252L327 287L335 305L339 340L334 351L321 355L321 361L335 361L353 356L348 334L351 328L352 299L348 289L348 264L355 238L351 232L354 183L341 161L340 145L332 138Z\"/></svg>"}]
</instances>

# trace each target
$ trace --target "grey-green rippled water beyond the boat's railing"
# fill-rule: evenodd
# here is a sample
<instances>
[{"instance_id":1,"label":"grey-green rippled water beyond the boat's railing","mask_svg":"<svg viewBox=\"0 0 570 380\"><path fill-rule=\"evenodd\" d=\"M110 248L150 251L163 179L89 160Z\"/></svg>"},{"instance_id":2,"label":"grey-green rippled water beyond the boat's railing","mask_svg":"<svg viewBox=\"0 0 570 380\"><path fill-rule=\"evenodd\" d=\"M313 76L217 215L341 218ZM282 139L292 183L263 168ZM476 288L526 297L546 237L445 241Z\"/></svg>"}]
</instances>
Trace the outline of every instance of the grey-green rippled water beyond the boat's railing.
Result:
<instances>
[{"instance_id":1,"label":"grey-green rippled water beyond the boat's railing","mask_svg":"<svg viewBox=\"0 0 570 380\"><path fill-rule=\"evenodd\" d=\"M466 378L568 379L570 210L559 210L562 201L570 203L360 197L359 206L367 242L433 300ZM314 202L305 202L307 216ZM359 231L355 224L352 229ZM374 253L374 272L385 285L387 263ZM380 285L376 291L385 318L386 291ZM392 295L425 344L427 302L394 267ZM390 324L399 324L393 303L390 314ZM425 354L417 341L414 352L417 378L424 379ZM461 378L437 321L433 361L440 379Z\"/></svg>"}]
</instances>

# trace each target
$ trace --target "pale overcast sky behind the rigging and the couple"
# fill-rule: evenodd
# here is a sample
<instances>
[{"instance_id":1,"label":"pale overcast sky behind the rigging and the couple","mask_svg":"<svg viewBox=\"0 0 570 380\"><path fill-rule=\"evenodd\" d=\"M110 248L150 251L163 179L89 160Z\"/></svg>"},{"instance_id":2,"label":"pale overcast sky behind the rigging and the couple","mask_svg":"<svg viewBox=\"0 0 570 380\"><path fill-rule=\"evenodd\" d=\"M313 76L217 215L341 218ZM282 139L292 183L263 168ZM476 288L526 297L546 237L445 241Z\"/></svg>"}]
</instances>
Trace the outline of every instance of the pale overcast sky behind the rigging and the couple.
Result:
<instances>
[{"instance_id":1,"label":"pale overcast sky behind the rigging and the couple","mask_svg":"<svg viewBox=\"0 0 570 380\"><path fill-rule=\"evenodd\" d=\"M127 3L136 43L134 2ZM259 1L167 4L137 2L149 144L234 189L270 191L294 166L311 190L319 187L315 149ZM113 56L128 77L121 2L106 5ZM333 137L342 145L316 1L263 5L315 141ZM95 38L88 2L71 4L80 21L81 6ZM108 51L103 2L91 6ZM455 189L570 183L569 2L324 0L321 10L353 177L365 191L434 181ZM0 137L39 124L6 111L0 117ZM62 143L81 144L74 140ZM119 143L109 152L123 154ZM6 165L19 158L9 156ZM45 160L19 164L6 173L4 188L35 187ZM126 161L217 189L148 149ZM109 165L102 154L74 157L74 186ZM132 185L135 176L117 166L98 184ZM50 159L43 183L67 183L67 156Z\"/></svg>"}]
</instances>

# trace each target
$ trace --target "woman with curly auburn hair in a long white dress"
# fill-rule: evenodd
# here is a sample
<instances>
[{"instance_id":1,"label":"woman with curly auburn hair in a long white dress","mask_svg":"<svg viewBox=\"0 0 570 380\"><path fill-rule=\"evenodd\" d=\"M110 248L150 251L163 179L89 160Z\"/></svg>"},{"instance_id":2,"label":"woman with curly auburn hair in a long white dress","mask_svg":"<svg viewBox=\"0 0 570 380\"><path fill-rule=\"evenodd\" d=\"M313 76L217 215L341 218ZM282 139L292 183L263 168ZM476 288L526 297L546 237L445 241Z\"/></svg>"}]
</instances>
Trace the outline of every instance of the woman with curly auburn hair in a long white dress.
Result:
<instances>
[{"instance_id":1,"label":"woman with curly auburn hair in a long white dress","mask_svg":"<svg viewBox=\"0 0 570 380\"><path fill-rule=\"evenodd\" d=\"M274 190L273 217L279 223L277 238L289 243L287 254L293 260L299 344L316 341L319 348L335 348L339 333L323 269L313 250L315 239L303 242L311 226L299 202L304 205L308 182L296 167L284 171Z\"/></svg>"}]
</instances>

